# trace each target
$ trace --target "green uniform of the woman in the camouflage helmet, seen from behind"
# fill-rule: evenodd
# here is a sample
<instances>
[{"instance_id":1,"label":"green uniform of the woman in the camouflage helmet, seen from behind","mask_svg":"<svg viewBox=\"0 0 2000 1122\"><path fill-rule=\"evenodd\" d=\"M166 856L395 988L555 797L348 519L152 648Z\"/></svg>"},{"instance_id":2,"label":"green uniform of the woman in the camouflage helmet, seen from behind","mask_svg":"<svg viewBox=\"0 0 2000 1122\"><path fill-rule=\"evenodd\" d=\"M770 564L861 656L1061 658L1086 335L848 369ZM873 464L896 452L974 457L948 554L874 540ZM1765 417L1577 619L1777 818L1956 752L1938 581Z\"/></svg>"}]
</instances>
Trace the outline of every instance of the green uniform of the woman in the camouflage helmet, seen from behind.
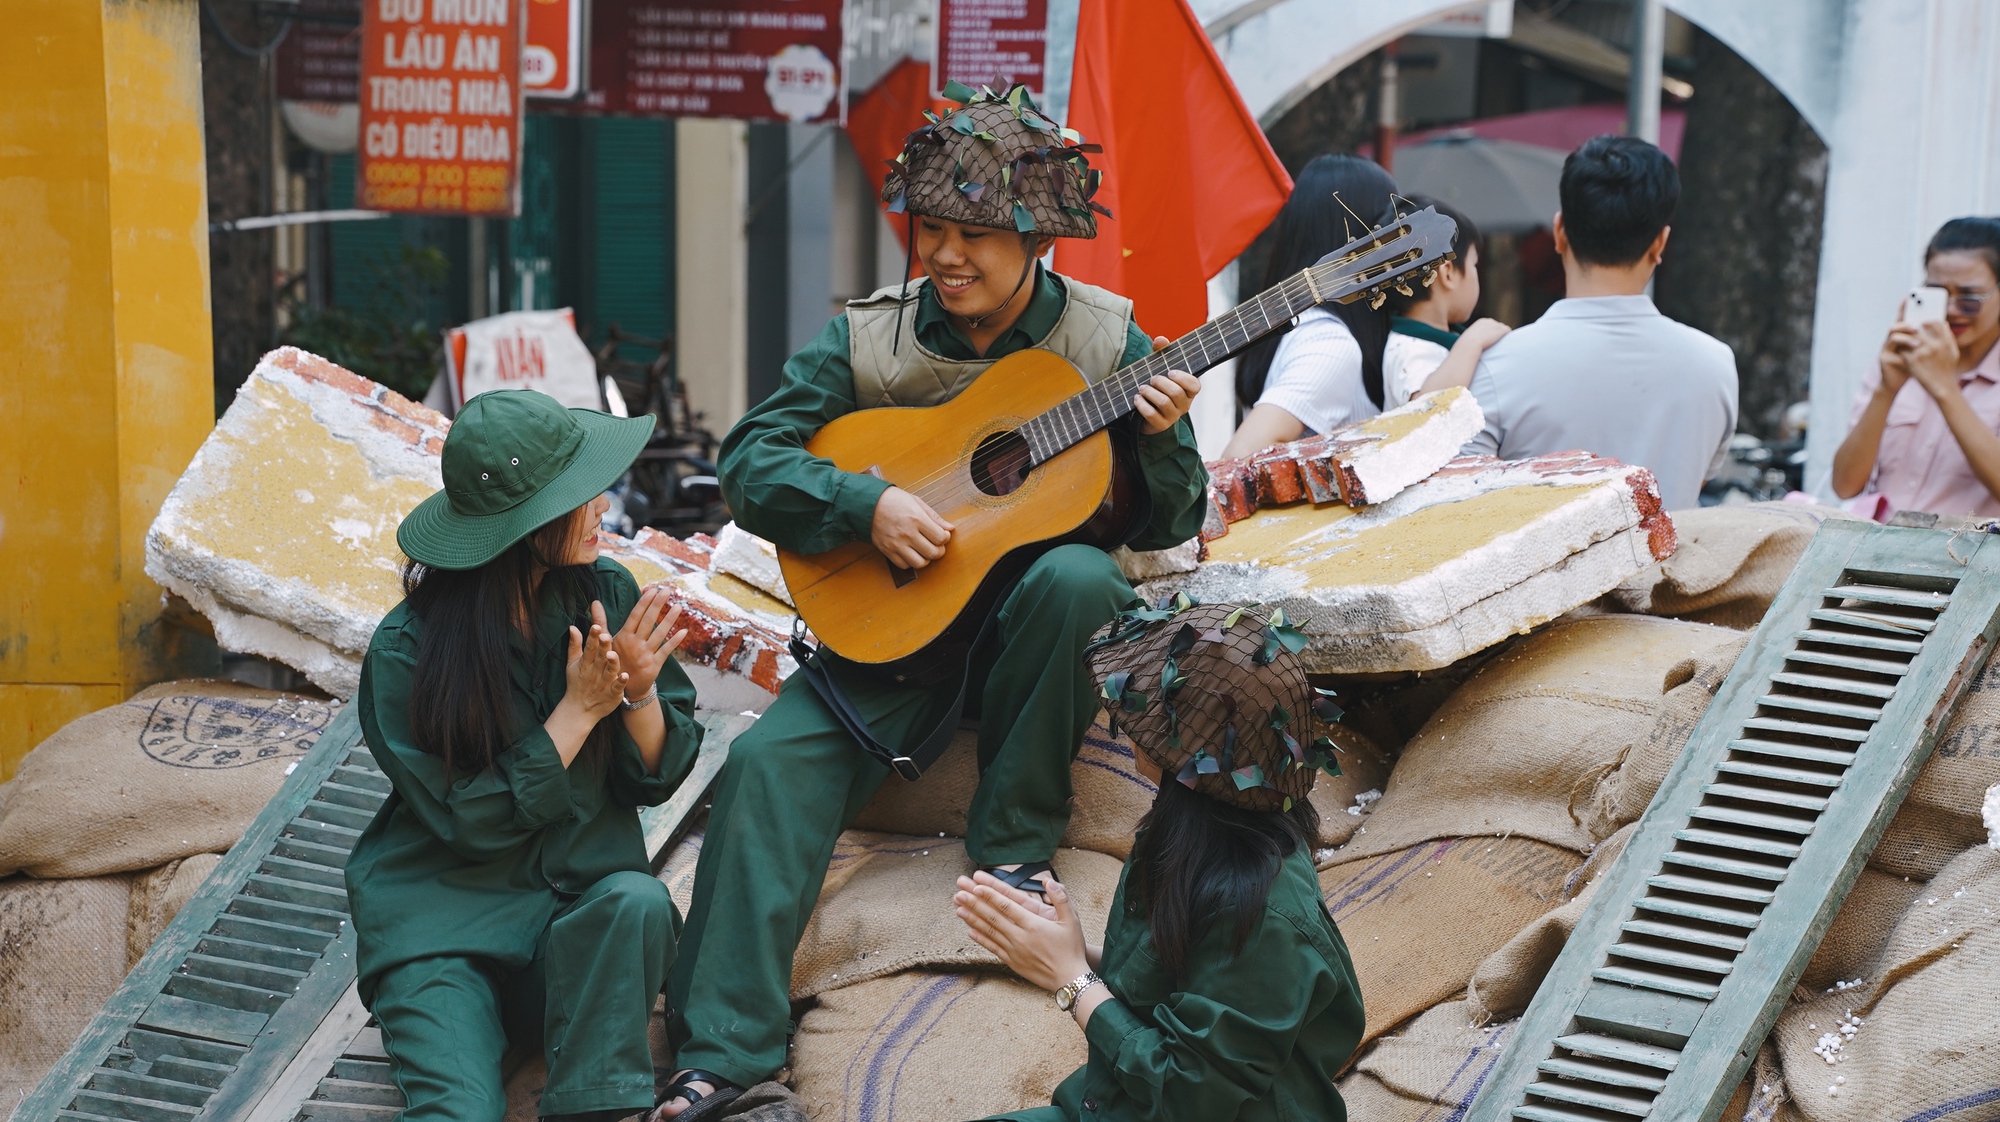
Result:
<instances>
[{"instance_id":1,"label":"green uniform of the woman in the camouflage helmet, seen from behind","mask_svg":"<svg viewBox=\"0 0 2000 1122\"><path fill-rule=\"evenodd\" d=\"M1132 866L1126 866L1130 876ZM1278 866L1264 916L1240 952L1234 914L1208 924L1176 982L1152 954L1146 916L1118 882L1098 974L1110 998L1090 1012L1090 1062L1054 1106L1012 1122L1344 1122L1334 1074L1362 1040L1348 946L1320 902L1312 852Z\"/></svg>"}]
</instances>

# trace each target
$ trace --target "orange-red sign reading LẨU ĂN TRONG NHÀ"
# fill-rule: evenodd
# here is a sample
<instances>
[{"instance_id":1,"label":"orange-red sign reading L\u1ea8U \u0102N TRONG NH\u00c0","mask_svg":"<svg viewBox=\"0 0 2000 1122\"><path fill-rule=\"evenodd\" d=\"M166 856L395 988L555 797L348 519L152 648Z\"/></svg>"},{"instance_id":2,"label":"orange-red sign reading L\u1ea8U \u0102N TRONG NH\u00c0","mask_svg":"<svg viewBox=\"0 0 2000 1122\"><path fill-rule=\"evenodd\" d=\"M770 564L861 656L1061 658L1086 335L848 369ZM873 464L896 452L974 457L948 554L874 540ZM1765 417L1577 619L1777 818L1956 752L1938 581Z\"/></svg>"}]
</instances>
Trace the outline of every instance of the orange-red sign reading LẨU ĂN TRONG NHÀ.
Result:
<instances>
[{"instance_id":1,"label":"orange-red sign reading L\u1ea8U \u0102N TRONG NH\u00c0","mask_svg":"<svg viewBox=\"0 0 2000 1122\"><path fill-rule=\"evenodd\" d=\"M528 0L364 0L354 204L520 214Z\"/></svg>"}]
</instances>

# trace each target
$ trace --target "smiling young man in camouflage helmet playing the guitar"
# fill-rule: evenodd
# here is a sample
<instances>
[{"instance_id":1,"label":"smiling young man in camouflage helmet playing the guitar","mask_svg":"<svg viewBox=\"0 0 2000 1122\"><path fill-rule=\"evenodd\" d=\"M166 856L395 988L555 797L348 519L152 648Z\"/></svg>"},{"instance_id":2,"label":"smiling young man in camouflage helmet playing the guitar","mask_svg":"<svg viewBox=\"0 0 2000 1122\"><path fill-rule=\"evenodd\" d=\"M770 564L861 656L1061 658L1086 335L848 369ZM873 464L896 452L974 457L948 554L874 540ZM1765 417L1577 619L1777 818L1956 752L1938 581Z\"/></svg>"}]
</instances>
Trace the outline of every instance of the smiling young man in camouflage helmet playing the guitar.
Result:
<instances>
[{"instance_id":1,"label":"smiling young man in camouflage helmet playing the guitar","mask_svg":"<svg viewBox=\"0 0 2000 1122\"><path fill-rule=\"evenodd\" d=\"M784 384L722 442L722 490L736 522L796 554L866 540L918 574L952 546L952 522L882 478L844 472L806 442L834 418L936 406L996 360L1050 350L1098 382L1154 342L1132 302L1044 270L1056 238L1096 236L1092 172L1076 134L1024 90L978 94L906 142L884 188L910 218L924 278L856 300L784 368ZM1102 210L1102 208L1096 208ZM1160 340L1164 344L1166 340ZM1138 388L1114 438L1138 484L1114 538L1160 550L1202 524L1208 474L1186 412L1200 382L1182 370ZM912 410L914 412L914 410ZM820 648L878 744L914 754L954 696L980 714L980 786L966 850L1004 882L1040 890L1070 818L1070 762L1098 708L1084 644L1132 600L1096 546L1042 552L1006 588L972 646L938 674L884 674ZM706 1118L784 1066L792 954L818 900L834 840L890 776L806 674L730 746L702 840L694 904L668 982L680 1072L660 1118ZM960 682L964 678L964 684ZM900 782L900 780L898 780ZM940 882L940 906L946 886Z\"/></svg>"}]
</instances>

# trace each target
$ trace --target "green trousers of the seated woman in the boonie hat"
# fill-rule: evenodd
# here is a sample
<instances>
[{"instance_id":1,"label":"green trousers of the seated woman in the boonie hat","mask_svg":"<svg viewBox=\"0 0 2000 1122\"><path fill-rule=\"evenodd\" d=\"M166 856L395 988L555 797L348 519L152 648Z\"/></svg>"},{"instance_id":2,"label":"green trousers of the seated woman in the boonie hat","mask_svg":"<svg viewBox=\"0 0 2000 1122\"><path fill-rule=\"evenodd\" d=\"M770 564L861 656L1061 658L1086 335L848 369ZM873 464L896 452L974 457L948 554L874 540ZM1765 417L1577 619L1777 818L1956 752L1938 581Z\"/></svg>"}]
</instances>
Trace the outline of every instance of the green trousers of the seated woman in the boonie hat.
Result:
<instances>
[{"instance_id":1,"label":"green trousers of the seated woman in the boonie hat","mask_svg":"<svg viewBox=\"0 0 2000 1122\"><path fill-rule=\"evenodd\" d=\"M522 970L450 956L390 968L370 1010L408 1102L402 1118L500 1122L508 1044L540 1044L548 1058L542 1114L650 1108L646 1018L672 962L666 886L614 872L556 912Z\"/></svg>"}]
</instances>

